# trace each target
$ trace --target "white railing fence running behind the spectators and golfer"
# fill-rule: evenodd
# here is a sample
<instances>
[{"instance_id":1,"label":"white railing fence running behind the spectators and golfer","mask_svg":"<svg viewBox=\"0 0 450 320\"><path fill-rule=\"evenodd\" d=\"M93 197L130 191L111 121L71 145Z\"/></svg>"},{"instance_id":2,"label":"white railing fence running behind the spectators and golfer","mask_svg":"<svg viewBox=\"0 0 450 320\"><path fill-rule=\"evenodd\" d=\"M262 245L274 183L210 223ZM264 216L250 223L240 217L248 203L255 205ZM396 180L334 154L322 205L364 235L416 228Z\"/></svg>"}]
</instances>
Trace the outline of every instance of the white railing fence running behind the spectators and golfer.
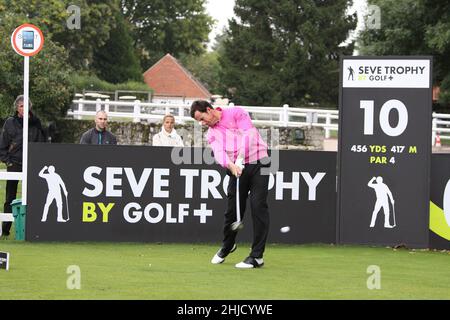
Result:
<instances>
[{"instance_id":1,"label":"white railing fence running behind the spectators and golfer","mask_svg":"<svg viewBox=\"0 0 450 320\"><path fill-rule=\"evenodd\" d=\"M232 103L228 105L233 106ZM226 108L227 106L225 106ZM314 126L325 130L325 138L330 138L331 131L338 130L339 111L330 109L295 108L285 104L282 107L241 106L247 110L255 124L268 126L299 127ZM190 104L148 103L135 100L132 102L106 100L73 100L72 109L67 113L75 119L95 116L98 110L108 112L109 118L133 119L134 122L157 122L165 114L177 117L177 122L193 121L189 115ZM440 139L450 140L450 114L433 113L432 143Z\"/></svg>"}]
</instances>

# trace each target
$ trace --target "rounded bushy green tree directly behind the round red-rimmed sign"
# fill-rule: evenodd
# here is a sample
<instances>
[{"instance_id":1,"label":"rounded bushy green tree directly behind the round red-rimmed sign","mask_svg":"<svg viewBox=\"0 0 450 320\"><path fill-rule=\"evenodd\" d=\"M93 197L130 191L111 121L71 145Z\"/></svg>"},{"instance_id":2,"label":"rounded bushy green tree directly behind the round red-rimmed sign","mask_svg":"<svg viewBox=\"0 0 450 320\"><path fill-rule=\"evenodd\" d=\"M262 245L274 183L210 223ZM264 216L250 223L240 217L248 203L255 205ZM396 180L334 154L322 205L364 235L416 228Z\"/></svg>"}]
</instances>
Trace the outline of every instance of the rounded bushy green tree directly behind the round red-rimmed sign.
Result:
<instances>
[{"instance_id":1,"label":"rounded bushy green tree directly behind the round red-rimmed sign","mask_svg":"<svg viewBox=\"0 0 450 320\"><path fill-rule=\"evenodd\" d=\"M23 22L0 26L0 117L13 114L16 96L23 94L23 60L14 52L9 41L12 31ZM43 49L30 58L29 94L33 110L44 121L64 117L73 98L70 76L64 48L46 39Z\"/></svg>"}]
</instances>

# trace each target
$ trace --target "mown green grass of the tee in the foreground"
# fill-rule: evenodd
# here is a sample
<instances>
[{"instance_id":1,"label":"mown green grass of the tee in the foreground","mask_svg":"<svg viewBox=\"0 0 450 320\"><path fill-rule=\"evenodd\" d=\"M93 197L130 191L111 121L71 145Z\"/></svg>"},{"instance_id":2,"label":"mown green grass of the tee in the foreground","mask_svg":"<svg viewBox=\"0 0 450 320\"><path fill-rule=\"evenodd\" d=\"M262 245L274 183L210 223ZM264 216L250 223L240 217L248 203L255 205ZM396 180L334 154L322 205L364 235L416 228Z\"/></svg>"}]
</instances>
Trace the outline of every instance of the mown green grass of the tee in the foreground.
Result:
<instances>
[{"instance_id":1,"label":"mown green grass of the tee in the foreground","mask_svg":"<svg viewBox=\"0 0 450 320\"><path fill-rule=\"evenodd\" d=\"M266 265L238 270L240 244L221 265L214 244L26 243L2 240L10 270L1 299L450 299L448 252L329 245L269 245ZM67 268L81 272L69 290ZM370 265L381 289L369 290Z\"/></svg>"}]
</instances>

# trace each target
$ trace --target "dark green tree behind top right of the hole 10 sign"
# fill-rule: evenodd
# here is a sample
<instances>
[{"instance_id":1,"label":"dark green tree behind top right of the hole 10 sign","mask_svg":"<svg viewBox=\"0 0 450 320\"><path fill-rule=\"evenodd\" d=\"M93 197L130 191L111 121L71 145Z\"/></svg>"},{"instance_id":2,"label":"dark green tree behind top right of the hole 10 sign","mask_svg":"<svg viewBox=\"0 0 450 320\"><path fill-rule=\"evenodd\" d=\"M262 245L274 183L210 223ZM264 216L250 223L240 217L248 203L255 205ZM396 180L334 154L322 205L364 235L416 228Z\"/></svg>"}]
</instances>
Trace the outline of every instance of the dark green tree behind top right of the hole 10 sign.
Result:
<instances>
[{"instance_id":1,"label":"dark green tree behind top right of the hole 10 sign","mask_svg":"<svg viewBox=\"0 0 450 320\"><path fill-rule=\"evenodd\" d=\"M381 11L381 28L359 36L362 54L432 55L433 82L440 102L450 104L450 2L448 0L371 0Z\"/></svg>"}]
</instances>

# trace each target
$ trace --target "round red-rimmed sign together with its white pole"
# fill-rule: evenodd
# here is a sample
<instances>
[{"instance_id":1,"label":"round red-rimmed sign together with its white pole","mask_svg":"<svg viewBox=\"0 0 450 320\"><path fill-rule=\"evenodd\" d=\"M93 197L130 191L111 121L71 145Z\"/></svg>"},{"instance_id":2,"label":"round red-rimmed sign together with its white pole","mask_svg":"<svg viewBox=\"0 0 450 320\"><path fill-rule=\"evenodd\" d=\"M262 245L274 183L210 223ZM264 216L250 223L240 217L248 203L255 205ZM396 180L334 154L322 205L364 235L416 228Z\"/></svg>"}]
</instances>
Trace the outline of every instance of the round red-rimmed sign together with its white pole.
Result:
<instances>
[{"instance_id":1,"label":"round red-rimmed sign together with its white pole","mask_svg":"<svg viewBox=\"0 0 450 320\"><path fill-rule=\"evenodd\" d=\"M11 36L14 51L24 57L23 68L23 153L22 153L22 205L27 204L27 168L28 168L28 119L29 119L29 70L30 57L41 51L44 45L42 31L32 25L23 24L16 28Z\"/></svg>"}]
</instances>

